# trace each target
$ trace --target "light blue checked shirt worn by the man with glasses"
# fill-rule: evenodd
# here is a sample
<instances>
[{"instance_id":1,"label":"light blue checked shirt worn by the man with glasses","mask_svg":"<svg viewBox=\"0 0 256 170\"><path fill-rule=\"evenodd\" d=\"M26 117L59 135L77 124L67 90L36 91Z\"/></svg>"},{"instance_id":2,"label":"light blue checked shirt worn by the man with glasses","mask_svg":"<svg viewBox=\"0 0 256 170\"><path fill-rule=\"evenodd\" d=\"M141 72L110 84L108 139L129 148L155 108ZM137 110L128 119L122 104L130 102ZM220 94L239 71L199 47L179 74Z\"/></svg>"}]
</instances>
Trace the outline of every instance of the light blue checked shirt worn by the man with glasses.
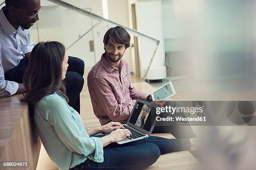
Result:
<instances>
[{"instance_id":1,"label":"light blue checked shirt worn by the man with glasses","mask_svg":"<svg viewBox=\"0 0 256 170\"><path fill-rule=\"evenodd\" d=\"M0 97L14 95L18 83L5 80L5 72L16 67L26 53L31 52L35 43L31 41L30 29L21 26L16 30L0 10Z\"/></svg>"}]
</instances>

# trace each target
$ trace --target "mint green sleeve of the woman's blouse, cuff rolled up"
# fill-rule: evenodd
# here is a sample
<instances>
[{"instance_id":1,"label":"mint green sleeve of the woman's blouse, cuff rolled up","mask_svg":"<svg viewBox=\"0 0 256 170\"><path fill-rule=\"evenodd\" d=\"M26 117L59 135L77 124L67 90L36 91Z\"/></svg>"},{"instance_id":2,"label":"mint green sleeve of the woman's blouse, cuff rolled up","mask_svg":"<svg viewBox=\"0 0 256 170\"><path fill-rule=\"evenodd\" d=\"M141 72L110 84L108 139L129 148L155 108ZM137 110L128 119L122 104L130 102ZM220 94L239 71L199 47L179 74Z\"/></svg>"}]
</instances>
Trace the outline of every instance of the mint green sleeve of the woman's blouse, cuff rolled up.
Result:
<instances>
[{"instance_id":1,"label":"mint green sleeve of the woman's blouse, cuff rolled up","mask_svg":"<svg viewBox=\"0 0 256 170\"><path fill-rule=\"evenodd\" d=\"M60 140L72 152L83 154L90 160L102 163L103 141L90 137L86 130L81 130L73 120L69 107L64 101L52 100L45 105L46 118L54 127ZM82 120L81 120L82 121ZM84 128L84 127L83 127Z\"/></svg>"}]
</instances>

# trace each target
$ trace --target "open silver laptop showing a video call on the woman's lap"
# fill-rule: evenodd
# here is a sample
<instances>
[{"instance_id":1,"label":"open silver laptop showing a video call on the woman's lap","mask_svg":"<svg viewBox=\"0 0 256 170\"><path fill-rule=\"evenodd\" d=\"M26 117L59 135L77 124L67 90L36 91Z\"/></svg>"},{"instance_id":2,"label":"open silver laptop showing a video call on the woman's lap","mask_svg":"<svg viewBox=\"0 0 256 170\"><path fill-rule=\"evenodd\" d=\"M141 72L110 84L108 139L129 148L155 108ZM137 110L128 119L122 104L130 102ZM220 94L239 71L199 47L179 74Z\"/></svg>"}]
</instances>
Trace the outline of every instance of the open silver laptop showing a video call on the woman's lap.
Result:
<instances>
[{"instance_id":1,"label":"open silver laptop showing a video call on the woman's lap","mask_svg":"<svg viewBox=\"0 0 256 170\"><path fill-rule=\"evenodd\" d=\"M126 129L130 130L132 136L127 136L117 143L123 144L148 138L156 124L156 107L145 100L136 100L127 123L123 125Z\"/></svg>"}]
</instances>

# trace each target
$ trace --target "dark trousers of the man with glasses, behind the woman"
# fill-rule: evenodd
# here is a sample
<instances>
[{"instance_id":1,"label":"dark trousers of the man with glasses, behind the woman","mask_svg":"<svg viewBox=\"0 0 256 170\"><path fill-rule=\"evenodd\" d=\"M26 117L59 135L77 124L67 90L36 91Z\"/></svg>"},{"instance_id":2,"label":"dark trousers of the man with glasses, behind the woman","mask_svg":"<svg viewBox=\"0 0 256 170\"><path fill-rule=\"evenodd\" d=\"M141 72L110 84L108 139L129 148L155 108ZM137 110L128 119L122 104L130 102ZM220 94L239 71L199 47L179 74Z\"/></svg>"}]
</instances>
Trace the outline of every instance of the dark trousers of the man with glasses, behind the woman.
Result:
<instances>
[{"instance_id":1,"label":"dark trousers of the man with glasses, behind the woman","mask_svg":"<svg viewBox=\"0 0 256 170\"><path fill-rule=\"evenodd\" d=\"M84 85L84 62L77 57L70 57L68 60L66 78L64 79L69 97L69 105L80 113L80 92ZM5 80L23 83L23 75L28 66L26 58L20 60L20 63L12 70L5 73Z\"/></svg>"}]
</instances>

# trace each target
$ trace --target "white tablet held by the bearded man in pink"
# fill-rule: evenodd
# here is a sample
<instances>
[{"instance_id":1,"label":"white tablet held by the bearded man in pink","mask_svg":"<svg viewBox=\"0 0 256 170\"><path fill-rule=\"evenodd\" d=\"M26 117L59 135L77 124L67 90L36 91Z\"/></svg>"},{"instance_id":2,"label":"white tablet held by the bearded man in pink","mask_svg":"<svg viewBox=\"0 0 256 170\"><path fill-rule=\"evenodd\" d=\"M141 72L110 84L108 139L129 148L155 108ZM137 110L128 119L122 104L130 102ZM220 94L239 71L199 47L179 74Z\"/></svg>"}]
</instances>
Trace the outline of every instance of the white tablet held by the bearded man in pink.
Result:
<instances>
[{"instance_id":1,"label":"white tablet held by the bearded man in pink","mask_svg":"<svg viewBox=\"0 0 256 170\"><path fill-rule=\"evenodd\" d=\"M172 85L172 82L168 82L162 87L159 87L154 92L152 92L152 99L154 100L161 100L161 99L168 99L172 95L175 95L176 92L174 90L174 87Z\"/></svg>"}]
</instances>

